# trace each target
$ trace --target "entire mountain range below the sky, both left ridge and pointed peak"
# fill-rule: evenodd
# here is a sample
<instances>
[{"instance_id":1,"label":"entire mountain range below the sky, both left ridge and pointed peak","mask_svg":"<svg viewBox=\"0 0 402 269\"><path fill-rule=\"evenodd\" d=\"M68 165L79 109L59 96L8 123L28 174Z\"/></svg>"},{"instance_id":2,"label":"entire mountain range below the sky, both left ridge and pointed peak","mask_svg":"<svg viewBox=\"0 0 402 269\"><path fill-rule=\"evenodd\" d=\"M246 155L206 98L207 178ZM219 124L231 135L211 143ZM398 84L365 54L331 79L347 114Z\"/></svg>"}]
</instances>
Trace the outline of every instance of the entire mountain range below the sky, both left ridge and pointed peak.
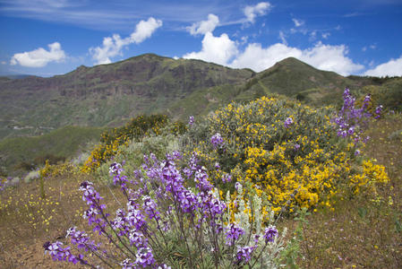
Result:
<instances>
[{"instance_id":1,"label":"entire mountain range below the sky, both left ridge and pointed peak","mask_svg":"<svg viewBox=\"0 0 402 269\"><path fill-rule=\"evenodd\" d=\"M399 84L398 78L344 77L292 57L256 74L145 54L110 65L80 66L51 78L0 79L0 140L47 134L62 126L120 126L140 114L185 119L232 100L273 93L321 106L340 102L345 87L355 92L381 88L383 98L398 100ZM394 89L390 95L389 85Z\"/></svg>"}]
</instances>

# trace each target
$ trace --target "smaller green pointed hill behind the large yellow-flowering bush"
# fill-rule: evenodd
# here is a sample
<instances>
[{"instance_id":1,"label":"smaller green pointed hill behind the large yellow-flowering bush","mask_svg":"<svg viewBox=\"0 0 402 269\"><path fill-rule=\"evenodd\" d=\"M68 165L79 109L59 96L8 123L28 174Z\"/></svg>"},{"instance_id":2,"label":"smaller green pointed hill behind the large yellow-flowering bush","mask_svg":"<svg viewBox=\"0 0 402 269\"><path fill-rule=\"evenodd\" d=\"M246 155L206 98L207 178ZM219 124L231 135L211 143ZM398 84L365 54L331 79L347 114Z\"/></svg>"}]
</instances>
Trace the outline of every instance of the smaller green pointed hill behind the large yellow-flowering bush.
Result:
<instances>
[{"instance_id":1,"label":"smaller green pointed hill behind the large yellow-flowering bush","mask_svg":"<svg viewBox=\"0 0 402 269\"><path fill-rule=\"evenodd\" d=\"M203 115L231 100L246 102L269 94L281 94L312 105L342 101L345 87L360 88L372 81L355 76L346 78L334 72L318 70L294 57L289 57L241 85L221 85L193 91L170 108L174 115Z\"/></svg>"}]
</instances>

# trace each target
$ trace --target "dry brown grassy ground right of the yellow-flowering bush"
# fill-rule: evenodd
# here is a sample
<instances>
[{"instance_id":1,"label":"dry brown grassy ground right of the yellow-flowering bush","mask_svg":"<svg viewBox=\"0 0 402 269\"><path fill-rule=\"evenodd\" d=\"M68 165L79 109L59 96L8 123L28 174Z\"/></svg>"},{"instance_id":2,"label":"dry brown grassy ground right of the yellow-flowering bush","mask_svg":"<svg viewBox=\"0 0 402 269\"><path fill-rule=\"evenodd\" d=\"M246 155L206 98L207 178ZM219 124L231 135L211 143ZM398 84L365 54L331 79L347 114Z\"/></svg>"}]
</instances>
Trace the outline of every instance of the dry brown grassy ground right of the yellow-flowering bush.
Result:
<instances>
[{"instance_id":1,"label":"dry brown grassy ground right of the yellow-flowering bush","mask_svg":"<svg viewBox=\"0 0 402 269\"><path fill-rule=\"evenodd\" d=\"M390 182L378 194L339 201L335 211L309 217L301 244L304 268L402 268L402 141L392 134L402 117L371 126L364 154L387 168Z\"/></svg>"}]
</instances>

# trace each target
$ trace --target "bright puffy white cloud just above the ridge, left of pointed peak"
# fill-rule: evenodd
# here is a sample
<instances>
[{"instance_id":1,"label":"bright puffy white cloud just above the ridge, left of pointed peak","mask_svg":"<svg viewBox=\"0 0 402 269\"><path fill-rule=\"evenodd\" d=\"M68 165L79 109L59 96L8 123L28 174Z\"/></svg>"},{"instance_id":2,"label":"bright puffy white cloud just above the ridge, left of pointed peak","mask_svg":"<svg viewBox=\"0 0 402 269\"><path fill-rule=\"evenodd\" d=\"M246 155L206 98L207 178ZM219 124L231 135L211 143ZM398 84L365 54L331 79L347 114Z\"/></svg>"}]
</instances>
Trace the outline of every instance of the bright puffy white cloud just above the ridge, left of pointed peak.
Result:
<instances>
[{"instance_id":1,"label":"bright puffy white cloud just above the ridge, left of pointed peak","mask_svg":"<svg viewBox=\"0 0 402 269\"><path fill-rule=\"evenodd\" d=\"M220 35L220 37L214 37L211 32L207 32L204 39L202 39L201 51L191 52L183 57L187 59L200 59L218 65L227 65L237 53L238 50L235 41L229 39L226 33Z\"/></svg>"}]
</instances>

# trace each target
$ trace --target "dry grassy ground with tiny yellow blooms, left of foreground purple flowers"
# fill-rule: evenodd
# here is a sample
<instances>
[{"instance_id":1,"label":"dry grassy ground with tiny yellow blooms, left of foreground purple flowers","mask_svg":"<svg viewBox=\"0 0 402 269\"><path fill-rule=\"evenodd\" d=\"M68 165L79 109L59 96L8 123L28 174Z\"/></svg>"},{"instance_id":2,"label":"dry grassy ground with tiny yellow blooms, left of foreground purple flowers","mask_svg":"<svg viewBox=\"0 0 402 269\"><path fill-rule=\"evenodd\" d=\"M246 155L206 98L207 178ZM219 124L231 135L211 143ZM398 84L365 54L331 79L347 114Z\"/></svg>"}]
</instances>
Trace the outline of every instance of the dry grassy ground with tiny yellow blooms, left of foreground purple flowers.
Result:
<instances>
[{"instance_id":1,"label":"dry grassy ground with tiny yellow blooms, left of foreground purple flowers","mask_svg":"<svg viewBox=\"0 0 402 269\"><path fill-rule=\"evenodd\" d=\"M45 180L46 197L40 197L39 183L20 184L4 189L0 210L0 268L70 268L71 264L53 262L44 255L46 241L64 241L65 231L87 227L81 214L80 183L94 178L85 175L64 175ZM99 187L105 204L113 210L117 205L107 186ZM87 231L90 231L87 229Z\"/></svg>"}]
</instances>

